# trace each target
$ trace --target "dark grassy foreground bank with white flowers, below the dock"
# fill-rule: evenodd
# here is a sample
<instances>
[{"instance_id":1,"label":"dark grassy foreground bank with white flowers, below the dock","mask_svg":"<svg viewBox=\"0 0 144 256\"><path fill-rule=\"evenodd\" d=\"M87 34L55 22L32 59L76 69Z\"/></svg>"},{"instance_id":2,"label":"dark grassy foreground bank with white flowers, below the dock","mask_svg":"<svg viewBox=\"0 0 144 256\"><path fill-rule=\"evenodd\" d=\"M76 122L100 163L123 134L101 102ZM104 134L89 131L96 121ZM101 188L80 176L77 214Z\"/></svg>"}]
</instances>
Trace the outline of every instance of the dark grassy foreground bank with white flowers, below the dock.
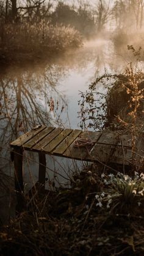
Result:
<instances>
[{"instance_id":1,"label":"dark grassy foreground bank with white flowers, below the dock","mask_svg":"<svg viewBox=\"0 0 144 256\"><path fill-rule=\"evenodd\" d=\"M143 255L143 207L137 203L143 202L143 174L102 170L75 174L71 189L36 194L29 209L2 227L1 255Z\"/></svg>"}]
</instances>

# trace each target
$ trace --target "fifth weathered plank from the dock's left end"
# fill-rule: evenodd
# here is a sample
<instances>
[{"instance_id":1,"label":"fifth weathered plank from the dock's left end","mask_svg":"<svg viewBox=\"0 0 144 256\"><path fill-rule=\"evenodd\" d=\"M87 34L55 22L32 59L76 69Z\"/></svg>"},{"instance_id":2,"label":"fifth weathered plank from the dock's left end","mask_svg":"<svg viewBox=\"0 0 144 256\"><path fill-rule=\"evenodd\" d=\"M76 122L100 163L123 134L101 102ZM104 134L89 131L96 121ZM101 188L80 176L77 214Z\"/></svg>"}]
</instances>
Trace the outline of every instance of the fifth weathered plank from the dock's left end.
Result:
<instances>
[{"instance_id":1,"label":"fifth weathered plank from the dock's left end","mask_svg":"<svg viewBox=\"0 0 144 256\"><path fill-rule=\"evenodd\" d=\"M56 148L52 153L63 155L68 147L74 142L74 140L82 133L80 130L74 130L72 133L59 144L59 147Z\"/></svg>"}]
</instances>

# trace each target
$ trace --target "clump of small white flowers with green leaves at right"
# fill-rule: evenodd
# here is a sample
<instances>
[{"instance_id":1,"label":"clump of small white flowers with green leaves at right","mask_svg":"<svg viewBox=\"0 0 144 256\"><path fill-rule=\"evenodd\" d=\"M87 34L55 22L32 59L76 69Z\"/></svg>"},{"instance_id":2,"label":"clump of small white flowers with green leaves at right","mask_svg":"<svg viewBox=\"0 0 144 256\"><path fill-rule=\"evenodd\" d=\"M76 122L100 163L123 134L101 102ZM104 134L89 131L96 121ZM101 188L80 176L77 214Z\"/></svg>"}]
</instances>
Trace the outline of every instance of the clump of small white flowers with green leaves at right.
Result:
<instances>
[{"instance_id":1,"label":"clump of small white flowers with green leaves at right","mask_svg":"<svg viewBox=\"0 0 144 256\"><path fill-rule=\"evenodd\" d=\"M134 177L118 172L117 175L102 174L104 189L96 192L96 207L106 207L115 213L140 213L144 204L144 174L134 173ZM135 211L135 208L138 210Z\"/></svg>"}]
</instances>

